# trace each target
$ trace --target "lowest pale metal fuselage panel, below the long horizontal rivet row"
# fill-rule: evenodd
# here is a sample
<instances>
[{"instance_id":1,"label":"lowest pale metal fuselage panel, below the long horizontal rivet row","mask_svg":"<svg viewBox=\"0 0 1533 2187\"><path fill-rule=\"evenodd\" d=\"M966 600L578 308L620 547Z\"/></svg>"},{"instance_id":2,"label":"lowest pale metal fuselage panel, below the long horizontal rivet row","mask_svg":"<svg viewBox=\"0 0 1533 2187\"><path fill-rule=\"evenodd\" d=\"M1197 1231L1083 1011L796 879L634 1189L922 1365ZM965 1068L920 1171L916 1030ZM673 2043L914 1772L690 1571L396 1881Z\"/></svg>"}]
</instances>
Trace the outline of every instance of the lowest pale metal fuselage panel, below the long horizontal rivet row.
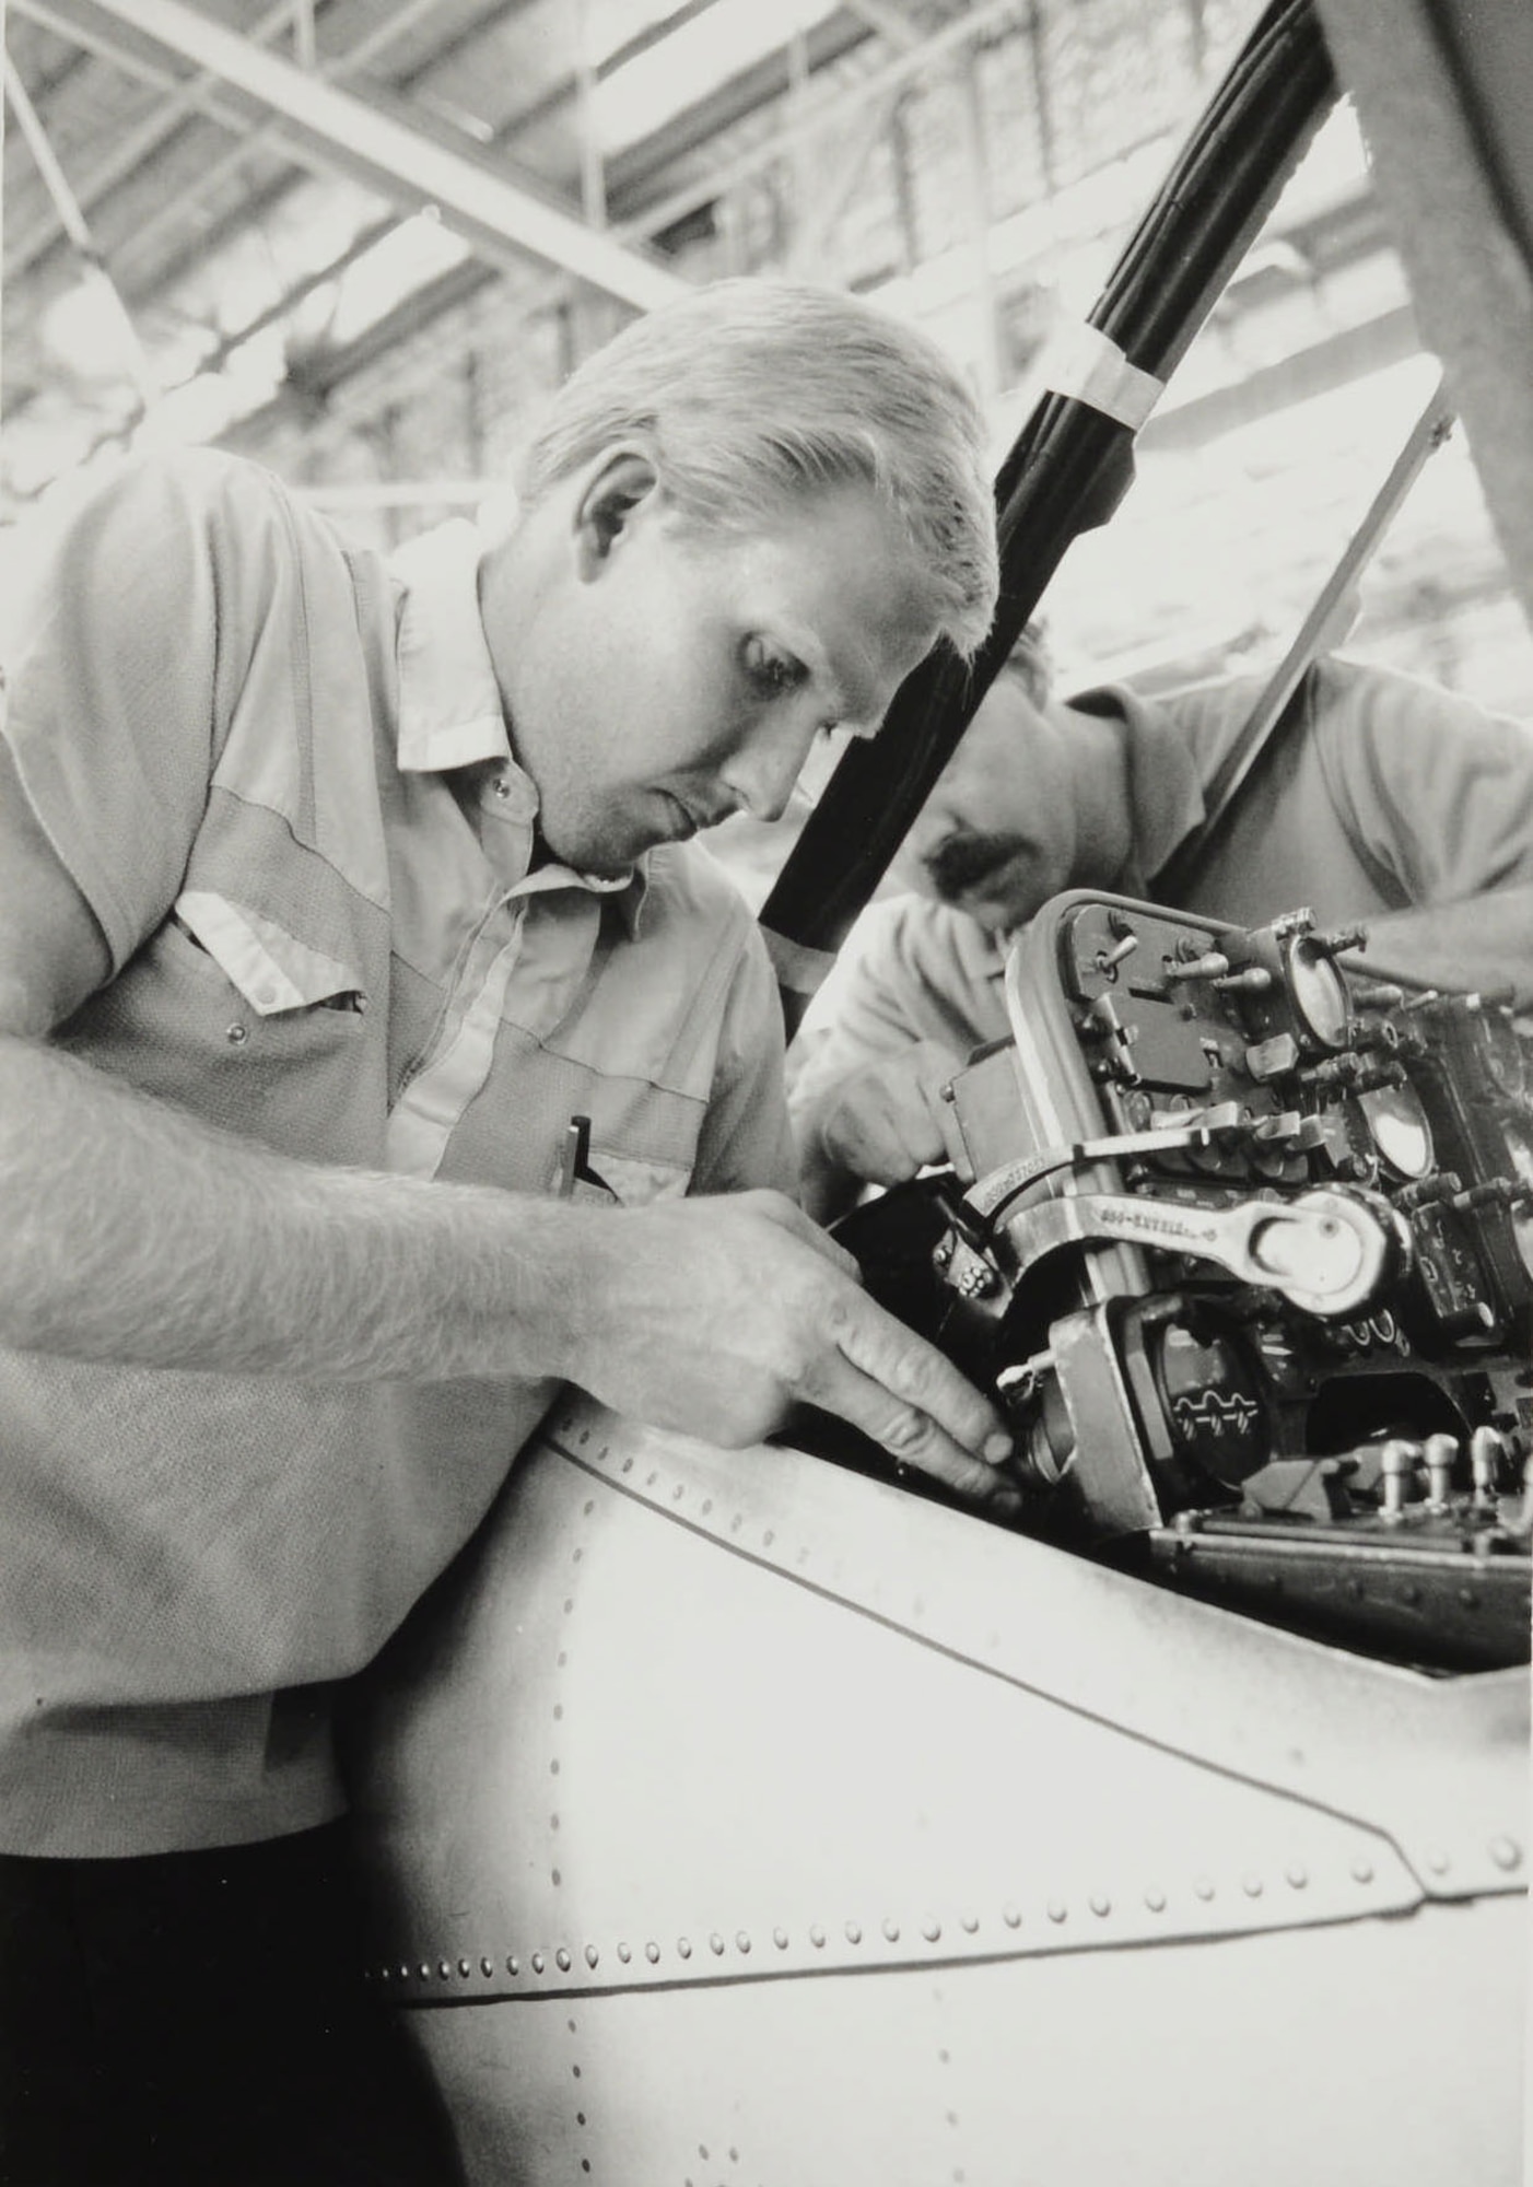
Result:
<instances>
[{"instance_id":1,"label":"lowest pale metal fuselage panel, below the long horizontal rivet row","mask_svg":"<svg viewBox=\"0 0 1533 2187\"><path fill-rule=\"evenodd\" d=\"M475 2187L1518 2187L1518 1901L411 2012Z\"/></svg>"}]
</instances>

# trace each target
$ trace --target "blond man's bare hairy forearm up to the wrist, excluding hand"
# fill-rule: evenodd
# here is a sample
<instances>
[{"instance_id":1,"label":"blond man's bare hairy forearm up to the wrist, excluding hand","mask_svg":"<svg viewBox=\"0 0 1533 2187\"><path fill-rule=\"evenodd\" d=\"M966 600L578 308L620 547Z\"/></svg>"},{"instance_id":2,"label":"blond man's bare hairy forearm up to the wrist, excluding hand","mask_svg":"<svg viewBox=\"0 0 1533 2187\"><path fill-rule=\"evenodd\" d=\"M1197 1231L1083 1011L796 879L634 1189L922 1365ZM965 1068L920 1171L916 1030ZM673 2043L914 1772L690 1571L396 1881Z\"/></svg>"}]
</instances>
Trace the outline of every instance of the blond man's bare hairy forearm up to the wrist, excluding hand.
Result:
<instances>
[{"instance_id":1,"label":"blond man's bare hairy forearm up to the wrist, excluding hand","mask_svg":"<svg viewBox=\"0 0 1533 2187\"><path fill-rule=\"evenodd\" d=\"M144 1367L547 1376L588 1214L317 1168L0 1039L0 1338Z\"/></svg>"}]
</instances>

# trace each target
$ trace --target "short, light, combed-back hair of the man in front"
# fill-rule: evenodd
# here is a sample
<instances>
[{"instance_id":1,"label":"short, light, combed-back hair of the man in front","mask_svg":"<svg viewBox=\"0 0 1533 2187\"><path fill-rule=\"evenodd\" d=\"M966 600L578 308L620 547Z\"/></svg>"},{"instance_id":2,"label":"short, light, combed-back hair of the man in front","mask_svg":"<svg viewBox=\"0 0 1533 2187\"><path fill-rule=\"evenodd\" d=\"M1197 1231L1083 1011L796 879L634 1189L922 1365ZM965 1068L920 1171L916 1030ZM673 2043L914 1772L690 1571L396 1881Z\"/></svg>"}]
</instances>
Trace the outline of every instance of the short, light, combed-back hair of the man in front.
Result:
<instances>
[{"instance_id":1,"label":"short, light, combed-back hair of the man in front","mask_svg":"<svg viewBox=\"0 0 1533 2187\"><path fill-rule=\"evenodd\" d=\"M643 319L560 387L516 490L534 507L606 448L643 451L676 507L746 531L831 486L870 486L967 658L995 612L995 496L951 359L862 297L722 280Z\"/></svg>"}]
</instances>

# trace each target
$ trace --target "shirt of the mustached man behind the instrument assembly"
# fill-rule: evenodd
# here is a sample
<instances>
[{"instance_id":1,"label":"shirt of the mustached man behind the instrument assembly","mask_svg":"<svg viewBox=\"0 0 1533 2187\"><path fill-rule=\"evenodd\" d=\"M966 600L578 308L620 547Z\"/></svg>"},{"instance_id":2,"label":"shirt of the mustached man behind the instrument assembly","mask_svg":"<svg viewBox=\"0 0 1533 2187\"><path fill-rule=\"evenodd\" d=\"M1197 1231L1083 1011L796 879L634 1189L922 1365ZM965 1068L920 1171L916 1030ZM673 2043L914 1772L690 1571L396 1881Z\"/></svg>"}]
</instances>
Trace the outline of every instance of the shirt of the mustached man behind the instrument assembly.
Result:
<instances>
[{"instance_id":1,"label":"shirt of the mustached man behind the instrument assembly","mask_svg":"<svg viewBox=\"0 0 1533 2187\"><path fill-rule=\"evenodd\" d=\"M1240 678L1170 700L1122 685L1069 700L1124 739L1133 851L1115 894L1159 901L1157 875L1203 824L1207 785L1260 693L1262 678ZM1308 905L1338 927L1533 881L1533 730L1338 658L1314 663L1301 704L1262 794L1212 844L1192 910L1262 925ZM794 1045L794 1113L912 1041L967 1056L1006 1039L1006 938L951 903L873 903Z\"/></svg>"}]
</instances>

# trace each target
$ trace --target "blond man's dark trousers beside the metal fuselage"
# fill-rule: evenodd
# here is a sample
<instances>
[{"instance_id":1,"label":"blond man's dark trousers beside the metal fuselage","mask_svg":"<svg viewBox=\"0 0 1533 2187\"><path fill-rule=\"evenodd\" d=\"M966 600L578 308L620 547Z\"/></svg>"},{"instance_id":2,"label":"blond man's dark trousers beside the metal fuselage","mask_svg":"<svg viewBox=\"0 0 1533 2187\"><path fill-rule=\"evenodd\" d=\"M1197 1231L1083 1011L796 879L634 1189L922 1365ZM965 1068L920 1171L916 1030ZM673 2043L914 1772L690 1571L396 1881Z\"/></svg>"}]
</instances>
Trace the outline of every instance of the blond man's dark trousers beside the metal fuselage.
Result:
<instances>
[{"instance_id":1,"label":"blond man's dark trousers beside the metal fuselage","mask_svg":"<svg viewBox=\"0 0 1533 2187\"><path fill-rule=\"evenodd\" d=\"M343 1824L0 1857L0 2187L450 2187L440 2104L361 1968Z\"/></svg>"}]
</instances>

